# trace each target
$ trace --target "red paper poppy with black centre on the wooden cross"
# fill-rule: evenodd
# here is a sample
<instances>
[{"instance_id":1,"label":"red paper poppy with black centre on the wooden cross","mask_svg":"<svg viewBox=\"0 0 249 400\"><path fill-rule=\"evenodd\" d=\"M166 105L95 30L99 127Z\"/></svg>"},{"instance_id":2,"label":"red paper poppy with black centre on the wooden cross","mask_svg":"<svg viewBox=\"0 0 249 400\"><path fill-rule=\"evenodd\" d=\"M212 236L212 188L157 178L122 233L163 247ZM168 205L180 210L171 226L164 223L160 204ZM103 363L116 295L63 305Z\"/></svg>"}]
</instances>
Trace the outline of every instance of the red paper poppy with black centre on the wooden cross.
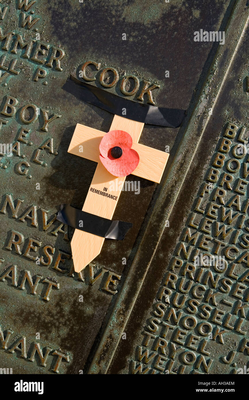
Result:
<instances>
[{"instance_id":1,"label":"red paper poppy with black centre on the wooden cross","mask_svg":"<svg viewBox=\"0 0 249 400\"><path fill-rule=\"evenodd\" d=\"M123 130L112 130L100 142L100 161L114 176L127 176L137 168L139 155L133 149L132 138Z\"/></svg>"}]
</instances>

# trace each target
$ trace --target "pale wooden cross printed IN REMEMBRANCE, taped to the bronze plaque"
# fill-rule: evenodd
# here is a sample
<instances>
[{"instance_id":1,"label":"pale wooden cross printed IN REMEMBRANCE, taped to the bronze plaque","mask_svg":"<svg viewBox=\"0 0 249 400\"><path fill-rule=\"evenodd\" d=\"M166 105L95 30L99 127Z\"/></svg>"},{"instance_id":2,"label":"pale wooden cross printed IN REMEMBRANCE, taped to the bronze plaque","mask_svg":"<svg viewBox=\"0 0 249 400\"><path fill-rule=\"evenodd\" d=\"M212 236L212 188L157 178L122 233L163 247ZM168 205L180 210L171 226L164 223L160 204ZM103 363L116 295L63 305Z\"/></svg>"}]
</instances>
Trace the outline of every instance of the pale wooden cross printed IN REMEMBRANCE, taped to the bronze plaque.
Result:
<instances>
[{"instance_id":1,"label":"pale wooden cross printed IN REMEMBRANCE, taped to the bronze plaque","mask_svg":"<svg viewBox=\"0 0 249 400\"><path fill-rule=\"evenodd\" d=\"M143 125L143 122L114 115L110 131L123 130L131 135L133 141L131 148L139 154L139 164L132 174L159 183L169 154L138 143ZM120 182L124 183L126 177L120 178L110 174L100 161L99 146L105 134L106 132L77 124L68 152L98 162L82 211L112 219L122 191L123 185ZM80 146L83 146L83 153L80 152ZM96 193L90 191L91 188L103 191L104 187L110 188L112 182L114 183L112 186L115 188L115 190L112 190L112 195L117 196L117 201L106 196L97 196L96 198ZM82 271L100 254L104 240L105 238L100 236L79 229L75 230L71 240L75 272Z\"/></svg>"}]
</instances>

